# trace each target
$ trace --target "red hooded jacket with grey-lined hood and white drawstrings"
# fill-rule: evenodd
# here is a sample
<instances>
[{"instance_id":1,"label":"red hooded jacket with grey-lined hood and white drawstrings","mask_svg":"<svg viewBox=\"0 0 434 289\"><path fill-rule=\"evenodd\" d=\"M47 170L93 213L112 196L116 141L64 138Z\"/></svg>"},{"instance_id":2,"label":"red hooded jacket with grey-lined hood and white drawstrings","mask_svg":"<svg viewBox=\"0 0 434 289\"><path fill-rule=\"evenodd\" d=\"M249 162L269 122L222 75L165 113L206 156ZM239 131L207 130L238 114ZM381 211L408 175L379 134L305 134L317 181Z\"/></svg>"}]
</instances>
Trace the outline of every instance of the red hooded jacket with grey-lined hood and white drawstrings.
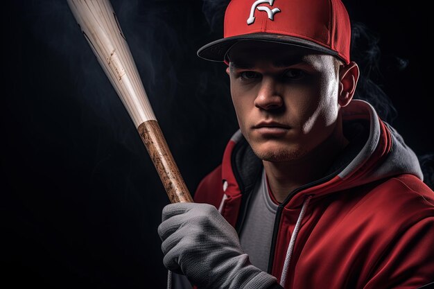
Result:
<instances>
[{"instance_id":1,"label":"red hooded jacket with grey-lined hood and white drawstrings","mask_svg":"<svg viewBox=\"0 0 434 289\"><path fill-rule=\"evenodd\" d=\"M286 289L418 288L433 282L434 193L422 182L417 157L368 103L352 100L342 115L355 151L279 205L268 272ZM238 131L194 199L214 204L239 230L261 170Z\"/></svg>"}]
</instances>

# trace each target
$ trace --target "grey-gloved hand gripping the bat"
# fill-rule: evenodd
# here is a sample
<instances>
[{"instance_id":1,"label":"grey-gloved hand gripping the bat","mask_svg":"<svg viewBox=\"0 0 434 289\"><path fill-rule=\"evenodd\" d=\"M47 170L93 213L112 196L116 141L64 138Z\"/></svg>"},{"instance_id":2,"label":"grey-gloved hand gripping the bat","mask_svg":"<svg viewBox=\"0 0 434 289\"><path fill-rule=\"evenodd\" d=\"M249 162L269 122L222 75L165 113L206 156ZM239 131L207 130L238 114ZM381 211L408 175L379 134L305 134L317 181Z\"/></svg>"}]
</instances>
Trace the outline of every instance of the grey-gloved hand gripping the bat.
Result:
<instances>
[{"instance_id":1,"label":"grey-gloved hand gripping the bat","mask_svg":"<svg viewBox=\"0 0 434 289\"><path fill-rule=\"evenodd\" d=\"M232 225L210 204L175 203L158 227L163 263L198 288L261 289L277 279L250 264Z\"/></svg>"}]
</instances>

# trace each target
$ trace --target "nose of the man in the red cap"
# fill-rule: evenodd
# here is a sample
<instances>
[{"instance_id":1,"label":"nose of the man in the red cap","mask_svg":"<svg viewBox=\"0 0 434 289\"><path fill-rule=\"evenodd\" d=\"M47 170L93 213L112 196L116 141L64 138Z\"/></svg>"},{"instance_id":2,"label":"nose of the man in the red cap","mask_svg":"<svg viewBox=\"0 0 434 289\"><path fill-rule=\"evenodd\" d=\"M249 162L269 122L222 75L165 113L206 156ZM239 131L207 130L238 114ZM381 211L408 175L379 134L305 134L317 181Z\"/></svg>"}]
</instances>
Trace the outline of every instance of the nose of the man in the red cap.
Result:
<instances>
[{"instance_id":1,"label":"nose of the man in the red cap","mask_svg":"<svg viewBox=\"0 0 434 289\"><path fill-rule=\"evenodd\" d=\"M270 76L264 76L259 87L254 106L262 110L277 110L284 105L284 99L279 93L279 83Z\"/></svg>"}]
</instances>

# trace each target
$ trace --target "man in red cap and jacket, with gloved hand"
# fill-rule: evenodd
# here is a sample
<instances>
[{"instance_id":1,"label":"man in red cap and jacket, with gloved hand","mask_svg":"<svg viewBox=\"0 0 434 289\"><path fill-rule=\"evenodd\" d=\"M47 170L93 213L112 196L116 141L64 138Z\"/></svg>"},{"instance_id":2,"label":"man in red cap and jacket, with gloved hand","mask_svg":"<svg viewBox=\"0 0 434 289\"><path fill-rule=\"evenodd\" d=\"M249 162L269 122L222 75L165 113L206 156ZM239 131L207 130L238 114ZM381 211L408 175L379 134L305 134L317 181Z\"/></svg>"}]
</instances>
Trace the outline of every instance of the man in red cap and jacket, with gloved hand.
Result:
<instances>
[{"instance_id":1,"label":"man in red cap and jacket, with gloved hand","mask_svg":"<svg viewBox=\"0 0 434 289\"><path fill-rule=\"evenodd\" d=\"M240 130L194 204L169 204L164 265L197 288L419 288L434 193L362 100L340 0L232 0L225 61ZM175 275L176 276L176 275ZM180 287L179 287L180 288Z\"/></svg>"}]
</instances>

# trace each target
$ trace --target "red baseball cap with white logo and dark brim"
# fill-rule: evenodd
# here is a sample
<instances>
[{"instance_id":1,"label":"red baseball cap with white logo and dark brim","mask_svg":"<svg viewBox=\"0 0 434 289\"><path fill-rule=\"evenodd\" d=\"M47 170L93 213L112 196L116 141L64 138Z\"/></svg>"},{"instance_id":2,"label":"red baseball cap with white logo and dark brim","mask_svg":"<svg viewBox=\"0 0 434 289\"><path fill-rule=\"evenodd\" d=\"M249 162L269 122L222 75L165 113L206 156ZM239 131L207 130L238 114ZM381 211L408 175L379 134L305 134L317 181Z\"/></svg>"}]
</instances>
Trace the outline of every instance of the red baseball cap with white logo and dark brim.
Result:
<instances>
[{"instance_id":1,"label":"red baseball cap with white logo and dark brim","mask_svg":"<svg viewBox=\"0 0 434 289\"><path fill-rule=\"evenodd\" d=\"M227 51L241 40L301 46L348 64L351 26L340 0L232 0L223 39L202 46L198 56L227 62Z\"/></svg>"}]
</instances>

